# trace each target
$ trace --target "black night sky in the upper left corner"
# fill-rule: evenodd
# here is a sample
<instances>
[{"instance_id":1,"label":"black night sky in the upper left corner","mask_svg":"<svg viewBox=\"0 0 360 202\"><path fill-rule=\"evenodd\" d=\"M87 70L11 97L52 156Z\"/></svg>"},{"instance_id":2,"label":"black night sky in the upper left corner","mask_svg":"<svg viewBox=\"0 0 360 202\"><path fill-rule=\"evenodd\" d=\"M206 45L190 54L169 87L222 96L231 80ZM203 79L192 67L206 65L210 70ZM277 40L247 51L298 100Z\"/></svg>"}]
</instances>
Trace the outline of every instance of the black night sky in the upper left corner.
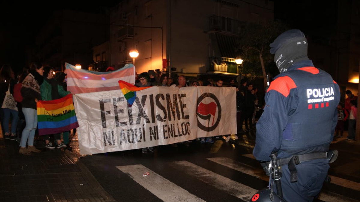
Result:
<instances>
[{"instance_id":1,"label":"black night sky in the upper left corner","mask_svg":"<svg viewBox=\"0 0 360 202\"><path fill-rule=\"evenodd\" d=\"M10 64L14 69L25 66L26 47L35 44L39 30L54 11L71 9L98 13L100 6L114 6L118 2L111 0L94 5L85 1L3 1L0 9L0 65Z\"/></svg>"}]
</instances>

